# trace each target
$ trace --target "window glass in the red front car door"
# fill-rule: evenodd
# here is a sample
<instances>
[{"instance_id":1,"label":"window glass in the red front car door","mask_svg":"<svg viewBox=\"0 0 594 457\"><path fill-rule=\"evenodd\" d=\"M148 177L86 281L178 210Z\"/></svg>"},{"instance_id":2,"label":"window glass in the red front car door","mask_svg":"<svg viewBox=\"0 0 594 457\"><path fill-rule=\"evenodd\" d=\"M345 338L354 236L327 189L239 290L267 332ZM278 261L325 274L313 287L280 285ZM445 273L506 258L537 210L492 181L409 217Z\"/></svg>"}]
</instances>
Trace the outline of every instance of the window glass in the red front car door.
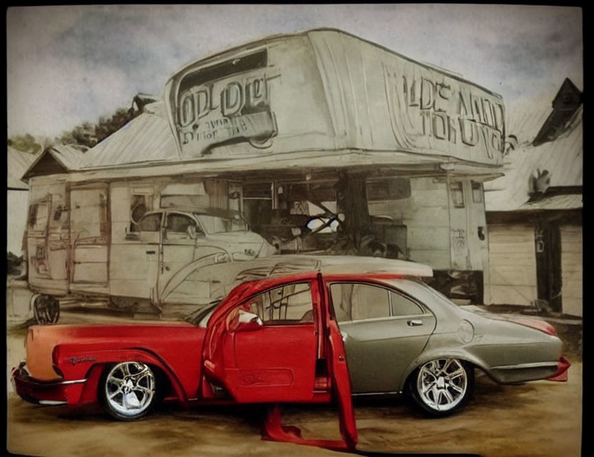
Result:
<instances>
[{"instance_id":1,"label":"window glass in the red front car door","mask_svg":"<svg viewBox=\"0 0 594 457\"><path fill-rule=\"evenodd\" d=\"M260 293L249 301L249 310L265 325L313 322L311 285L287 284Z\"/></svg>"}]
</instances>

